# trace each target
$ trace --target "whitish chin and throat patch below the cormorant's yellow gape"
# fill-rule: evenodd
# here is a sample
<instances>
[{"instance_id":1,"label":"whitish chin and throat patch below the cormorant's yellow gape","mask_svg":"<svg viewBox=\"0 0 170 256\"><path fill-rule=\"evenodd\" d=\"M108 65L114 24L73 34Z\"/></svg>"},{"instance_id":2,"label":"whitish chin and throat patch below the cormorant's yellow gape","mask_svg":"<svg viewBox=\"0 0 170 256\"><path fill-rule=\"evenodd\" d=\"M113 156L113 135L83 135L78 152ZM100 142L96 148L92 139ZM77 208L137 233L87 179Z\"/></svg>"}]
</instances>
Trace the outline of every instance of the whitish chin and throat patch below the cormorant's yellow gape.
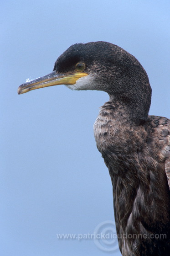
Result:
<instances>
[{"instance_id":1,"label":"whitish chin and throat patch below the cormorant's yellow gape","mask_svg":"<svg viewBox=\"0 0 170 256\"><path fill-rule=\"evenodd\" d=\"M76 81L75 85L66 85L71 90L93 90L93 76L82 76Z\"/></svg>"}]
</instances>

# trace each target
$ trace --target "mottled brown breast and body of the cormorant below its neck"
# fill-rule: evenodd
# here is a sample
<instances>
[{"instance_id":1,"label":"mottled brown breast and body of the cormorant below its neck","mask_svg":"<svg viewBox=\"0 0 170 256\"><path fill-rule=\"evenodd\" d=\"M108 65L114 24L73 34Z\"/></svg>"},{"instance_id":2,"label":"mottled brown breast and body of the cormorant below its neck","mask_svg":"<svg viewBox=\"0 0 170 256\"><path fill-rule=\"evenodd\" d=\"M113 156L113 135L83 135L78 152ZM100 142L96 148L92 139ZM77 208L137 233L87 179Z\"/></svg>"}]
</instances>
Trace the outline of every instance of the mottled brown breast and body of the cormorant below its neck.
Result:
<instances>
[{"instance_id":1,"label":"mottled brown breast and body of the cormorant below its neck","mask_svg":"<svg viewBox=\"0 0 170 256\"><path fill-rule=\"evenodd\" d=\"M168 256L170 251L170 120L148 116L135 125L108 101L94 123L98 150L113 184L118 242L123 256ZM169 185L168 185L169 184ZM123 234L165 234L166 239L128 239Z\"/></svg>"}]
</instances>

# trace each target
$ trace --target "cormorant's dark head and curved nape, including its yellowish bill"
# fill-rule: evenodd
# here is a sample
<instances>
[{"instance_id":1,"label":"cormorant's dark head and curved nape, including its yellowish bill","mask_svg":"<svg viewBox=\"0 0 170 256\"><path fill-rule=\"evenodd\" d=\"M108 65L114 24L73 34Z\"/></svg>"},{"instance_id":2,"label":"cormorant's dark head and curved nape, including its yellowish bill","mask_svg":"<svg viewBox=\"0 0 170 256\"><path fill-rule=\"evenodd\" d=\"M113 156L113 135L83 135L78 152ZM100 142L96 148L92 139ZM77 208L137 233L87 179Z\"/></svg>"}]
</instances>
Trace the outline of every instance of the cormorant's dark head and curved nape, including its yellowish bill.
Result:
<instances>
[{"instance_id":1,"label":"cormorant's dark head and curved nape, including its yellowish bill","mask_svg":"<svg viewBox=\"0 0 170 256\"><path fill-rule=\"evenodd\" d=\"M107 42L76 43L57 59L53 72L20 85L18 94L67 85L72 90L106 91L111 99L143 109L146 119L151 101L148 76L139 61ZM140 117L139 117L140 118Z\"/></svg>"}]
</instances>

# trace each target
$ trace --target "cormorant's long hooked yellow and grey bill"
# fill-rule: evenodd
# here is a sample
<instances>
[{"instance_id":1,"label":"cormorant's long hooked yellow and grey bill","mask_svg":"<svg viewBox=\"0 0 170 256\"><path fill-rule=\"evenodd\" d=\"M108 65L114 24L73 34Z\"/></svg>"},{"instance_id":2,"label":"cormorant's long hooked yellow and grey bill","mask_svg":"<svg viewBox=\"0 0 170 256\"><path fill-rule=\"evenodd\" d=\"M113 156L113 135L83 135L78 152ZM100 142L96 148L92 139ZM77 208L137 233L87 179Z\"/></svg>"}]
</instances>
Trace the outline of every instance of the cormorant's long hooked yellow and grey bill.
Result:
<instances>
[{"instance_id":1,"label":"cormorant's long hooked yellow and grey bill","mask_svg":"<svg viewBox=\"0 0 170 256\"><path fill-rule=\"evenodd\" d=\"M26 93L31 90L48 87L53 85L74 85L76 81L87 73L73 73L73 74L56 74L56 71L39 77L35 80L24 83L18 87L18 94Z\"/></svg>"}]
</instances>

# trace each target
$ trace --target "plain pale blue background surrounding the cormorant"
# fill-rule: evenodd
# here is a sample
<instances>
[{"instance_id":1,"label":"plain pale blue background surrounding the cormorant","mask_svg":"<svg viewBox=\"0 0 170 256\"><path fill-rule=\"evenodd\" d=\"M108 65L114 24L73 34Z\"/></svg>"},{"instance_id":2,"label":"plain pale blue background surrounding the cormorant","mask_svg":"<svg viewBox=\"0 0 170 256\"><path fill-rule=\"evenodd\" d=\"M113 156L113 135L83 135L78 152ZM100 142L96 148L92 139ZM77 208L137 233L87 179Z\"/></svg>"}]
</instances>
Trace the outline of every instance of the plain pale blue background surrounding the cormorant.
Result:
<instances>
[{"instance_id":1,"label":"plain pale blue background surrounding the cormorant","mask_svg":"<svg viewBox=\"0 0 170 256\"><path fill-rule=\"evenodd\" d=\"M93 240L113 220L112 186L93 138L99 91L53 86L18 96L73 43L108 41L133 54L153 89L150 114L170 117L169 0L16 0L0 3L0 256L119 256Z\"/></svg>"}]
</instances>

